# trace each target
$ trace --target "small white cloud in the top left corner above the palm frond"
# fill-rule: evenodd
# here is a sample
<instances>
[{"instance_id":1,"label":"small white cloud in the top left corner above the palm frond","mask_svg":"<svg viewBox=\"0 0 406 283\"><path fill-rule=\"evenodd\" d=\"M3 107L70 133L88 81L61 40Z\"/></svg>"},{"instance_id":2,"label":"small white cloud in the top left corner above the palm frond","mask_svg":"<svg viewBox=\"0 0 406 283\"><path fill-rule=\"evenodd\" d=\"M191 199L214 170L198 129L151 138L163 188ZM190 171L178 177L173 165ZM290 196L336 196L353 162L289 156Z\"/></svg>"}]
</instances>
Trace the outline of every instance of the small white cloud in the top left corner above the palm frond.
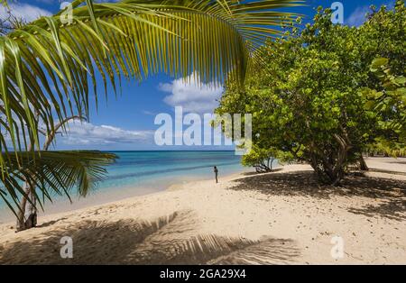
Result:
<instances>
[{"instance_id":1,"label":"small white cloud in the top left corner above the palm frond","mask_svg":"<svg viewBox=\"0 0 406 283\"><path fill-rule=\"evenodd\" d=\"M26 22L32 22L40 16L50 16L51 12L44 10L40 7L23 4L23 3L10 3L11 13L17 18L23 18ZM5 6L0 6L0 18L6 19L8 17L8 9Z\"/></svg>"}]
</instances>

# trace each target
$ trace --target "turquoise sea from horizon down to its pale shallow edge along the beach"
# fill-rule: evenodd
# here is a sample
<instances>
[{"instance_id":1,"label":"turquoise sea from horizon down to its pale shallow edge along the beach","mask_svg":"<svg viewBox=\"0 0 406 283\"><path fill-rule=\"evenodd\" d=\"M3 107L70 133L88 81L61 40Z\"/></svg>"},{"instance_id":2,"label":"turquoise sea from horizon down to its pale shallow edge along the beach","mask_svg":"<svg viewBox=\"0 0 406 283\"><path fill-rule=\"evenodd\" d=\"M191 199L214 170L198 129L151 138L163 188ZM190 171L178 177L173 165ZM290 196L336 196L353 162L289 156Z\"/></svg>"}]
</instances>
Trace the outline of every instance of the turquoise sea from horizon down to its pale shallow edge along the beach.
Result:
<instances>
[{"instance_id":1,"label":"turquoise sea from horizon down to its pale shallow edge along the beach","mask_svg":"<svg viewBox=\"0 0 406 283\"><path fill-rule=\"evenodd\" d=\"M214 179L217 166L219 179L223 176L250 170L241 164L234 151L112 151L119 158L107 167L106 179L97 190L84 198L73 197L73 205L66 196L53 196L54 203L45 205L45 211L59 212L61 206L69 210L87 205L102 204L130 196L146 195L200 179ZM76 196L72 192L72 196ZM62 209L65 210L65 209ZM13 219L3 199L0 199L0 221Z\"/></svg>"}]
</instances>

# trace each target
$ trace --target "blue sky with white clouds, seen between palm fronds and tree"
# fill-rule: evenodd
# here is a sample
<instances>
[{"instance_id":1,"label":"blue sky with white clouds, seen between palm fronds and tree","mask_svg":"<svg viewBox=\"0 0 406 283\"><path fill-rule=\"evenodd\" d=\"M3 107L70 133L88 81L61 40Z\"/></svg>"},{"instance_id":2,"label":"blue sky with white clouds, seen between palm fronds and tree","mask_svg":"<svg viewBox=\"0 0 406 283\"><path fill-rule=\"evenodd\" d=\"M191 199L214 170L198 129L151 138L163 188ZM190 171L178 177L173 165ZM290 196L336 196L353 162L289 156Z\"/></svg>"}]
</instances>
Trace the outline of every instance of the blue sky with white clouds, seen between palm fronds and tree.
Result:
<instances>
[{"instance_id":1,"label":"blue sky with white clouds, seen between palm fronds and tree","mask_svg":"<svg viewBox=\"0 0 406 283\"><path fill-rule=\"evenodd\" d=\"M23 16L27 21L39 14L48 15L59 11L60 0L12 0L14 14ZM329 7L332 0L309 0L306 7L296 8L305 14L309 21L318 5ZM342 0L345 23L359 25L370 5L393 5L394 0ZM3 9L3 10L2 10ZM0 17L4 17L4 8L0 8ZM102 86L102 84L100 84ZM100 87L101 89L101 87ZM100 93L104 95L104 92ZM122 96L109 96L108 102L100 99L98 112L93 106L90 123L70 125L68 135L59 136L57 150L231 150L226 146L158 147L153 142L153 132L159 127L154 125L156 114L172 114L175 105L181 105L187 112L208 113L217 105L221 89L210 86L199 88L185 85L164 74L147 78L142 83L123 81Z\"/></svg>"}]
</instances>

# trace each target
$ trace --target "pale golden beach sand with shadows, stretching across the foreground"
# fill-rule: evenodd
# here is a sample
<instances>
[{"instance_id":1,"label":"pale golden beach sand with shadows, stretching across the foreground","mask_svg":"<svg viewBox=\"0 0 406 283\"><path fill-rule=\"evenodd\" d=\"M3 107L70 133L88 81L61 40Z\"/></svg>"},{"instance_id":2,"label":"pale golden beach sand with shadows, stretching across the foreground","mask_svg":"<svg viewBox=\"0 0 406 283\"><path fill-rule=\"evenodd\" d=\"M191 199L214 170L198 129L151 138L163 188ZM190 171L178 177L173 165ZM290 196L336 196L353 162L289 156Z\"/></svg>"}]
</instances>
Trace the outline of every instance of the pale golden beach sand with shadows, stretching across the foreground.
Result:
<instances>
[{"instance_id":1,"label":"pale golden beach sand with shadows, stretching across the foreground","mask_svg":"<svg viewBox=\"0 0 406 283\"><path fill-rule=\"evenodd\" d=\"M406 159L366 161L343 187L290 165L41 216L21 233L1 224L0 263L406 264ZM60 258L64 236L73 259Z\"/></svg>"}]
</instances>

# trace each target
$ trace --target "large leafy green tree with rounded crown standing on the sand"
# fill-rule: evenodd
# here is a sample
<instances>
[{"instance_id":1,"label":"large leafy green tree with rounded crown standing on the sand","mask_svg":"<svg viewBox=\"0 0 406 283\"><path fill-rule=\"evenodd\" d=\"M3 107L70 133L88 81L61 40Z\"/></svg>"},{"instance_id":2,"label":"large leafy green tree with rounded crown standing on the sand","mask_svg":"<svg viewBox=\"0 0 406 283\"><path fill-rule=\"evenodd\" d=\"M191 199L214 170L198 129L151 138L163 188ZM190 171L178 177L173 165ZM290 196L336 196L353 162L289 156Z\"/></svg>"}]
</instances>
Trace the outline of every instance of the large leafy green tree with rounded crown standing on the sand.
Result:
<instances>
[{"instance_id":1,"label":"large leafy green tree with rounded crown standing on the sand","mask_svg":"<svg viewBox=\"0 0 406 283\"><path fill-rule=\"evenodd\" d=\"M319 8L314 23L269 41L259 50L263 70L245 89L228 83L217 113L253 114L254 145L290 152L338 185L382 131L363 90L383 87L370 69L376 57L404 70L405 9L402 1L394 11L382 7L359 28L335 25L330 15Z\"/></svg>"}]
</instances>

